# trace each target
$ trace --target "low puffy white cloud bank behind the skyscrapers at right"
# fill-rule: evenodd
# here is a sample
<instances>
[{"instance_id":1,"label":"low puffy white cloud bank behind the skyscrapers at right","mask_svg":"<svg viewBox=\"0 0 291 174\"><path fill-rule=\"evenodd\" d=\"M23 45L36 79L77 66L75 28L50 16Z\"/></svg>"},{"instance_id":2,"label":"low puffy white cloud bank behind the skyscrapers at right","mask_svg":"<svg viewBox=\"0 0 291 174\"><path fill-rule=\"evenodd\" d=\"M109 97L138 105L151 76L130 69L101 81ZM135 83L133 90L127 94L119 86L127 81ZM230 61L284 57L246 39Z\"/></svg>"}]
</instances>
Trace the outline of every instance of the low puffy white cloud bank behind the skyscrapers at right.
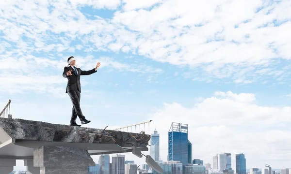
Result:
<instances>
[{"instance_id":1,"label":"low puffy white cloud bank behind the skyscrapers at right","mask_svg":"<svg viewBox=\"0 0 291 174\"><path fill-rule=\"evenodd\" d=\"M219 96L220 98L217 98ZM215 92L191 108L165 103L150 116L151 131L160 132L160 156L167 160L167 132L172 122L188 124L188 139L193 143L193 158L210 162L224 150L246 155L246 167L288 168L291 155L291 107L257 105L254 94ZM163 123L163 124L161 124ZM164 143L162 143L164 142Z\"/></svg>"}]
</instances>

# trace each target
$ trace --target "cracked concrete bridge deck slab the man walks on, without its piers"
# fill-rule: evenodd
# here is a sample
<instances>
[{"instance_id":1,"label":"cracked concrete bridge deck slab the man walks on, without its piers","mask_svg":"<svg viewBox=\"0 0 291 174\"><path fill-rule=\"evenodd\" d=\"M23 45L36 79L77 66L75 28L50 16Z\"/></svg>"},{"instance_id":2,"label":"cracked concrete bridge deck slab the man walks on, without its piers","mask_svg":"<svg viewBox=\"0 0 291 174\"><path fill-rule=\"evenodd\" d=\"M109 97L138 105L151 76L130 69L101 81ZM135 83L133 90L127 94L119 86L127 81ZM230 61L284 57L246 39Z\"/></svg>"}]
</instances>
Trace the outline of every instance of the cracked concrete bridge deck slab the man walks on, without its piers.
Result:
<instances>
[{"instance_id":1,"label":"cracked concrete bridge deck slab the man walks on, without its piers","mask_svg":"<svg viewBox=\"0 0 291 174\"><path fill-rule=\"evenodd\" d=\"M62 146L87 150L90 155L147 151L150 135L41 121L0 118L0 158L31 159L33 148Z\"/></svg>"}]
</instances>

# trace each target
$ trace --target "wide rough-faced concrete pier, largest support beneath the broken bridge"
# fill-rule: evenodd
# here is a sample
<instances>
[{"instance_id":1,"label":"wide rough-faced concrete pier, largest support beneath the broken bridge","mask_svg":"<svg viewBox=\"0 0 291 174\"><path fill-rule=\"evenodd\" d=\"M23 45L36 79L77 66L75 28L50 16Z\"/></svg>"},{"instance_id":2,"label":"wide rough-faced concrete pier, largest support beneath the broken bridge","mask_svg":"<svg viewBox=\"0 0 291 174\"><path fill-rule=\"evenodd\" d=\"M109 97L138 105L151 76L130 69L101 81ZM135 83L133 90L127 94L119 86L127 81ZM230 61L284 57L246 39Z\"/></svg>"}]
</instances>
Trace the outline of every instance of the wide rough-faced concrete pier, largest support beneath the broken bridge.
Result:
<instances>
[{"instance_id":1,"label":"wide rough-faced concrete pier, largest support beneath the broken bridge","mask_svg":"<svg viewBox=\"0 0 291 174\"><path fill-rule=\"evenodd\" d=\"M83 149L42 146L33 150L33 166L40 167L40 174L87 174L95 162Z\"/></svg>"}]
</instances>

